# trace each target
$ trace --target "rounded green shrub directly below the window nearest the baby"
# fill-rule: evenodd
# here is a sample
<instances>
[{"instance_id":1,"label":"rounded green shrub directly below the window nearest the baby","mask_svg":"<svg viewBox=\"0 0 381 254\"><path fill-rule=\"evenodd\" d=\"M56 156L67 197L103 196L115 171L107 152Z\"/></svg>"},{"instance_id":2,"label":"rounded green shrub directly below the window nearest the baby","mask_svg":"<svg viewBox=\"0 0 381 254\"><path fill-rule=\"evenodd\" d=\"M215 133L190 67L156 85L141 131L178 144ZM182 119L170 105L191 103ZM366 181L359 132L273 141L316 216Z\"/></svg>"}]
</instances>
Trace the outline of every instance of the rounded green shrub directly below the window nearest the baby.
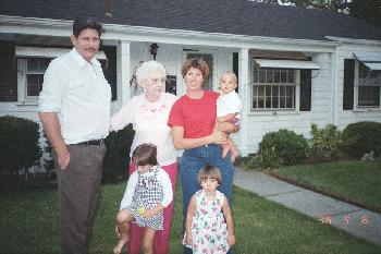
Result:
<instances>
[{"instance_id":1,"label":"rounded green shrub directly below the window nearest the baby","mask_svg":"<svg viewBox=\"0 0 381 254\"><path fill-rule=\"evenodd\" d=\"M258 156L262 167L294 165L306 157L307 148L307 140L303 135L281 129L262 137Z\"/></svg>"}]
</instances>

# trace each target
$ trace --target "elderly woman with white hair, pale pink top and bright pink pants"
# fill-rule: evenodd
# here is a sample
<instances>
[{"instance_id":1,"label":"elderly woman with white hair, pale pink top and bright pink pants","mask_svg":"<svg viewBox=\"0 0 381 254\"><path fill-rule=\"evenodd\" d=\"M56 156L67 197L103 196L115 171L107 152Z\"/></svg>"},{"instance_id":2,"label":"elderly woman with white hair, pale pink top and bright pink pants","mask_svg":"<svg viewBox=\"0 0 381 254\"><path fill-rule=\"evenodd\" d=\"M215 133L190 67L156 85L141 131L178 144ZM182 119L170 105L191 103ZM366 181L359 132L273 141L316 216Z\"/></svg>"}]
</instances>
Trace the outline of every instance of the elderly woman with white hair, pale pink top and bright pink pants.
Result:
<instances>
[{"instance_id":1,"label":"elderly woman with white hair, pale pink top and bright pink pants","mask_svg":"<svg viewBox=\"0 0 381 254\"><path fill-rule=\"evenodd\" d=\"M131 146L133 152L138 145L151 143L158 147L158 162L170 176L175 192L177 164L173 146L171 128L167 125L169 113L176 97L165 93L165 69L157 61L144 62L136 70L137 84L144 88L142 95L134 96L111 118L111 130L119 131L133 124L135 136ZM131 155L130 155L131 157ZM130 174L136 166L130 162ZM155 253L168 253L171 234L172 203L164 209L164 226L155 237ZM128 240L128 253L139 253L144 229L132 225Z\"/></svg>"}]
</instances>

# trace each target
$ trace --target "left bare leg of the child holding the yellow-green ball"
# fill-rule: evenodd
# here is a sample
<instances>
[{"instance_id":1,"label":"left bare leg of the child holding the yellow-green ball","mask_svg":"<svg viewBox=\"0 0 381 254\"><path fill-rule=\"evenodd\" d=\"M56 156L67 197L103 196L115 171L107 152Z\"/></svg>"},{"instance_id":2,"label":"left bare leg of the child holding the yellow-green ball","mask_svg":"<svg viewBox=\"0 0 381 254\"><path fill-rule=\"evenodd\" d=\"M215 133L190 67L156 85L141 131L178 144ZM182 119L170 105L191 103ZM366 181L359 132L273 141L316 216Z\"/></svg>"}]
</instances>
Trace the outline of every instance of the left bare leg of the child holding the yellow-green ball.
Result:
<instances>
[{"instance_id":1,"label":"left bare leg of the child holding the yellow-green ball","mask_svg":"<svg viewBox=\"0 0 381 254\"><path fill-rule=\"evenodd\" d=\"M116 215L116 229L119 242L115 245L113 252L114 254L120 254L122 252L123 246L128 242L128 230L130 223L133 220L133 215L130 210L123 209Z\"/></svg>"}]
</instances>

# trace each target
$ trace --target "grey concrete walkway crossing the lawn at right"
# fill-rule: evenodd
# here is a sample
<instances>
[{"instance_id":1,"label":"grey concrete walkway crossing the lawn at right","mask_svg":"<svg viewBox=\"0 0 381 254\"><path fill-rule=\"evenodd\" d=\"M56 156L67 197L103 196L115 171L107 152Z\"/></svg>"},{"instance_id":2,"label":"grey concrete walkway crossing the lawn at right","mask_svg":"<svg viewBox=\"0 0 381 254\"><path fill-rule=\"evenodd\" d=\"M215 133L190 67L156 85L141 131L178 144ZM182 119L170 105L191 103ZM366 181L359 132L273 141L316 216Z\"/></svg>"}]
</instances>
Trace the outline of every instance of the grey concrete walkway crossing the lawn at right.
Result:
<instances>
[{"instance_id":1,"label":"grey concrete walkway crossing the lawn at right","mask_svg":"<svg viewBox=\"0 0 381 254\"><path fill-rule=\"evenodd\" d=\"M241 168L234 185L381 245L380 214Z\"/></svg>"}]
</instances>

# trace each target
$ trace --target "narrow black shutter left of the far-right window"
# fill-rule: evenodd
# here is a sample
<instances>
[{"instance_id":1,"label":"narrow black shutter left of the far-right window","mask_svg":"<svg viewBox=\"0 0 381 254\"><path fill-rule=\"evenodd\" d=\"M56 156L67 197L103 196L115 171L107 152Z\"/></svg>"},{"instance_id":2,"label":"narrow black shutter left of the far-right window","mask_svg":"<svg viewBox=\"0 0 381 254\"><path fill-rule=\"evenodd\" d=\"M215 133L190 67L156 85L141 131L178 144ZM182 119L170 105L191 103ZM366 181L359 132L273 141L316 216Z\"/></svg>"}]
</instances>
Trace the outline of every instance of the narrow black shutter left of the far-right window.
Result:
<instances>
[{"instance_id":1,"label":"narrow black shutter left of the far-right window","mask_svg":"<svg viewBox=\"0 0 381 254\"><path fill-rule=\"evenodd\" d=\"M343 110L353 109L355 59L344 59Z\"/></svg>"}]
</instances>

